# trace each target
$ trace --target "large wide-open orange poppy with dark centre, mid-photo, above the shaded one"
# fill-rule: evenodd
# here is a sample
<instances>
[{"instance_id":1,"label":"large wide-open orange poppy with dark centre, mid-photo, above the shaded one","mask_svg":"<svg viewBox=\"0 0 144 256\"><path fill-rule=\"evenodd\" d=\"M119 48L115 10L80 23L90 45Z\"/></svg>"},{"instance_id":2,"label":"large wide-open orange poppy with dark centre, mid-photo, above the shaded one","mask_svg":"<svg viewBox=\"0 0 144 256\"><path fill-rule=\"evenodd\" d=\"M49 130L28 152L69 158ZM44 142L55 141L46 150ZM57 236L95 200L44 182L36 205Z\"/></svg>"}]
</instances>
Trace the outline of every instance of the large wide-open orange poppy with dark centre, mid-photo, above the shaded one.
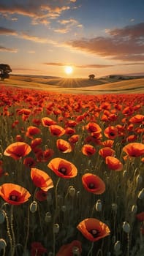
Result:
<instances>
[{"instance_id":1,"label":"large wide-open orange poppy with dark centre, mid-photo, above the shaded one","mask_svg":"<svg viewBox=\"0 0 144 256\"><path fill-rule=\"evenodd\" d=\"M48 167L61 178L73 178L77 176L77 167L72 162L63 158L53 158Z\"/></svg>"}]
</instances>

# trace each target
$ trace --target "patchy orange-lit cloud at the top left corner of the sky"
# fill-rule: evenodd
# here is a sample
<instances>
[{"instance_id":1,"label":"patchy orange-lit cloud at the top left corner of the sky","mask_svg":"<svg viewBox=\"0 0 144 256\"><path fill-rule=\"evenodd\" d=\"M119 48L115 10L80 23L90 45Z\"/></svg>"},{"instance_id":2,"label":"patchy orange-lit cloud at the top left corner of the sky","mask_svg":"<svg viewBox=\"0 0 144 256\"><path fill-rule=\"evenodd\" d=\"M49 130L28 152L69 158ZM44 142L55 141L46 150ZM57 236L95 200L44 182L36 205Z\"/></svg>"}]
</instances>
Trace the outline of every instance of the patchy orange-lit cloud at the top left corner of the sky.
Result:
<instances>
[{"instance_id":1,"label":"patchy orange-lit cloud at the top left corner of the sky","mask_svg":"<svg viewBox=\"0 0 144 256\"><path fill-rule=\"evenodd\" d=\"M7 18L7 14L18 14L29 16L32 20L37 20L38 23L41 23L46 18L58 18L61 15L61 12L69 10L69 1L65 0L64 2L65 5L61 4L61 0L25 0L23 2L15 0L9 1L8 3L3 2L0 6L0 12L1 14L6 15L5 18ZM34 23L36 23L36 21Z\"/></svg>"}]
</instances>

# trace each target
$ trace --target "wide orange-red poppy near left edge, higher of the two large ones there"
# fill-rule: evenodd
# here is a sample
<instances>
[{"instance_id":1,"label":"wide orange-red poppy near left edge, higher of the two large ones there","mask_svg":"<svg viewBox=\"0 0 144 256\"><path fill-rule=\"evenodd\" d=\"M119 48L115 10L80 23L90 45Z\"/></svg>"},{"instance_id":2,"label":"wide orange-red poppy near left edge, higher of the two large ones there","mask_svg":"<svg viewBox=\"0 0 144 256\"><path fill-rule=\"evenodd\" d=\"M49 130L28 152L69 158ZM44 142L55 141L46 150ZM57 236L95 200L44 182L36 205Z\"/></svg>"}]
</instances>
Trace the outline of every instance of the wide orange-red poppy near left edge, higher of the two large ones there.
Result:
<instances>
[{"instance_id":1,"label":"wide orange-red poppy near left edge, higher of the two large ones there","mask_svg":"<svg viewBox=\"0 0 144 256\"><path fill-rule=\"evenodd\" d=\"M15 160L25 157L31 152L31 147L24 142L15 142L10 144L5 151L4 156L12 157Z\"/></svg>"}]
</instances>

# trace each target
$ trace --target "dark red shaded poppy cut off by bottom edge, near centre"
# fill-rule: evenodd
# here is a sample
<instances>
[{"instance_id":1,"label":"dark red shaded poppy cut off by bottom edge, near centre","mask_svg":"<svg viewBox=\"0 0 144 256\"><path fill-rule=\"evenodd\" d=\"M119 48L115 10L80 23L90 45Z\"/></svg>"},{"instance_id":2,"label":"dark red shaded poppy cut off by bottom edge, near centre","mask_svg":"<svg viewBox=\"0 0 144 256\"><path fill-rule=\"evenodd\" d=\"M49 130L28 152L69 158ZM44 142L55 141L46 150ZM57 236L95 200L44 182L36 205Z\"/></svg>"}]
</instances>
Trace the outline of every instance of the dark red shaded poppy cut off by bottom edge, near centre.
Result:
<instances>
[{"instance_id":1,"label":"dark red shaded poppy cut off by bottom edge, near centre","mask_svg":"<svg viewBox=\"0 0 144 256\"><path fill-rule=\"evenodd\" d=\"M61 246L56 256L68 256L68 255L72 256L73 255L72 249L75 247L79 249L79 252L81 254L82 252L81 243L78 240L74 240L70 244L64 244L63 246Z\"/></svg>"}]
</instances>

